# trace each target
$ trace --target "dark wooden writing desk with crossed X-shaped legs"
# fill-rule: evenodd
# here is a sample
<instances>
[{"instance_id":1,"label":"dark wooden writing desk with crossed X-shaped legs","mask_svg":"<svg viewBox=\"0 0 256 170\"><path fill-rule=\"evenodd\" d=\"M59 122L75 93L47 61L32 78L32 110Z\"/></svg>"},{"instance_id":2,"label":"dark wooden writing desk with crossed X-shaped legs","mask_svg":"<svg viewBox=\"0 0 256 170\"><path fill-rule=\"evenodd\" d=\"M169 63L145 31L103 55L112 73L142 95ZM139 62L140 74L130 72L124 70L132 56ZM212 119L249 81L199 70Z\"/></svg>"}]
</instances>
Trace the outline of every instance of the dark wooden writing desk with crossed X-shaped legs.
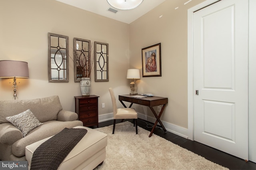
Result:
<instances>
[{"instance_id":1,"label":"dark wooden writing desk with crossed X-shaped legs","mask_svg":"<svg viewBox=\"0 0 256 170\"><path fill-rule=\"evenodd\" d=\"M150 108L150 110L152 111L152 113L154 114L154 116L156 117L156 122L149 134L149 137L152 136L154 129L156 128L157 123L159 122L160 125L162 126L164 132L167 132L166 128L164 127L163 123L160 120L160 117L164 111L164 108L166 107L166 104L168 103L168 98L166 97L158 97L158 96L152 96L152 97L145 97L145 98L135 98L132 97L132 95L119 95L118 96L119 101L122 103L122 105L124 107L126 107L126 105L124 104L123 101L126 102L130 102L130 107L132 107L133 103L139 104L139 105L144 105L144 106L148 106ZM154 106L159 106L159 105L163 105L159 115L156 114L156 112L154 111L153 107Z\"/></svg>"}]
</instances>

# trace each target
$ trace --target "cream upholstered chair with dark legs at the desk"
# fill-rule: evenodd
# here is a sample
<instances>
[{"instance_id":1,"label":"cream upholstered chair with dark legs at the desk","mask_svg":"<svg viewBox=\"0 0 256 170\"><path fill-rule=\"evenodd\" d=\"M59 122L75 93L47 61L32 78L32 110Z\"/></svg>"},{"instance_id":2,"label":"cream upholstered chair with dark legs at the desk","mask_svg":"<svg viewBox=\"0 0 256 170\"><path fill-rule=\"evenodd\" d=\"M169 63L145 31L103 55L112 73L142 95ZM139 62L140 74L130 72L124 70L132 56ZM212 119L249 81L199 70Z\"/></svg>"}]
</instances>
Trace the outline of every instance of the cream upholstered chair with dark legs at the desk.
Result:
<instances>
[{"instance_id":1,"label":"cream upholstered chair with dark legs at the desk","mask_svg":"<svg viewBox=\"0 0 256 170\"><path fill-rule=\"evenodd\" d=\"M133 119L133 126L136 126L136 134L138 134L138 126L137 126L137 119L138 114L133 108L117 108L116 107L116 97L114 95L113 89L109 88L110 96L112 99L112 105L113 105L113 113L114 113L114 125L113 125L113 133L115 131L116 127L116 119Z\"/></svg>"}]
</instances>

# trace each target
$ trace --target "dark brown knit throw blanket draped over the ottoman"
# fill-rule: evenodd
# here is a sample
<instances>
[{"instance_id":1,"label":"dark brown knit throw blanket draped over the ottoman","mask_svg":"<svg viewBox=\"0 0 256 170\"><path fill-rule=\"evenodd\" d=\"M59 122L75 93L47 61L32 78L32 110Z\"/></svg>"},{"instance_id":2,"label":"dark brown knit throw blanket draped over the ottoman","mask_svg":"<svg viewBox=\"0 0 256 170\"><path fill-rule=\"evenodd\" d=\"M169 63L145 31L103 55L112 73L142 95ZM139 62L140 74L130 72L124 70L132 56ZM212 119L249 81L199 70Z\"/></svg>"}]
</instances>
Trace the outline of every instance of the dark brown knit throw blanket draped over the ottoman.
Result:
<instances>
[{"instance_id":1,"label":"dark brown knit throw blanket draped over the ottoman","mask_svg":"<svg viewBox=\"0 0 256 170\"><path fill-rule=\"evenodd\" d=\"M32 156L30 170L56 170L69 152L84 137L84 128L64 128L46 140Z\"/></svg>"}]
</instances>

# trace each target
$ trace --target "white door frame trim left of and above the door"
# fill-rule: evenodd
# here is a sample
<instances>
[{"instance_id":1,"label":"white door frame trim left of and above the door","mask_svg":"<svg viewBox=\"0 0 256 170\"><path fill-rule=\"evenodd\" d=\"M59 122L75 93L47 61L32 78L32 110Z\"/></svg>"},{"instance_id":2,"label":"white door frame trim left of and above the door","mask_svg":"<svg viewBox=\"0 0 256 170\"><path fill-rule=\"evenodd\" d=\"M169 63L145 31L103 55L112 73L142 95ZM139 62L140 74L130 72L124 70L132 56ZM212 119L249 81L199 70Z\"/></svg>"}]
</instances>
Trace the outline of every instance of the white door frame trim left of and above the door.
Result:
<instances>
[{"instance_id":1,"label":"white door frame trim left of and above the door","mask_svg":"<svg viewBox=\"0 0 256 170\"><path fill-rule=\"evenodd\" d=\"M200 10L219 0L206 0L188 9L188 139L194 140L194 37L193 37L193 15Z\"/></svg>"}]
</instances>

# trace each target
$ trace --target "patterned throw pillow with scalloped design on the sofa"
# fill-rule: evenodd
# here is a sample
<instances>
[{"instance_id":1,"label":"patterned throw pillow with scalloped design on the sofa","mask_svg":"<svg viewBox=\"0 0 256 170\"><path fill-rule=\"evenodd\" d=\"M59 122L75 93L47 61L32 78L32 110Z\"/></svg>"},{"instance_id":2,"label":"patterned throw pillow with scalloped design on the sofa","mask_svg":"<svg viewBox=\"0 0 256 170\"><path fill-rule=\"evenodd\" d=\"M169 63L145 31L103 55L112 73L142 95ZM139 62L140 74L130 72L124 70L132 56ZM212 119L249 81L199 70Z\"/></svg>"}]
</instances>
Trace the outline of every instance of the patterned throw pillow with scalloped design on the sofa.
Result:
<instances>
[{"instance_id":1,"label":"patterned throw pillow with scalloped design on the sofa","mask_svg":"<svg viewBox=\"0 0 256 170\"><path fill-rule=\"evenodd\" d=\"M30 109L18 115L6 117L6 120L19 128L24 137L34 128L43 125L40 121L38 121L38 119L36 119L34 113L32 113Z\"/></svg>"}]
</instances>

